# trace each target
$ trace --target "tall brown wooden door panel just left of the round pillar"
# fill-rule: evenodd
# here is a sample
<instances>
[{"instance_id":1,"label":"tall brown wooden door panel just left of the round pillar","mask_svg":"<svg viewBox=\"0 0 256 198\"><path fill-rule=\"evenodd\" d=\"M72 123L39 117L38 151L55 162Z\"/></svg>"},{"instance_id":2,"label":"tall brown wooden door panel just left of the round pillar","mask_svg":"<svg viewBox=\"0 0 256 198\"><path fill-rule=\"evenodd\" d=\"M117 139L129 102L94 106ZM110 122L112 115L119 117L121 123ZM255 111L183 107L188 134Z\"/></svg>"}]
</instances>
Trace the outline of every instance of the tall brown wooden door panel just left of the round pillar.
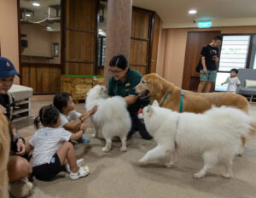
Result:
<instances>
[{"instance_id":1,"label":"tall brown wooden door panel just left of the round pillar","mask_svg":"<svg viewBox=\"0 0 256 198\"><path fill-rule=\"evenodd\" d=\"M97 0L66 0L65 74L95 73L96 5Z\"/></svg>"}]
</instances>

